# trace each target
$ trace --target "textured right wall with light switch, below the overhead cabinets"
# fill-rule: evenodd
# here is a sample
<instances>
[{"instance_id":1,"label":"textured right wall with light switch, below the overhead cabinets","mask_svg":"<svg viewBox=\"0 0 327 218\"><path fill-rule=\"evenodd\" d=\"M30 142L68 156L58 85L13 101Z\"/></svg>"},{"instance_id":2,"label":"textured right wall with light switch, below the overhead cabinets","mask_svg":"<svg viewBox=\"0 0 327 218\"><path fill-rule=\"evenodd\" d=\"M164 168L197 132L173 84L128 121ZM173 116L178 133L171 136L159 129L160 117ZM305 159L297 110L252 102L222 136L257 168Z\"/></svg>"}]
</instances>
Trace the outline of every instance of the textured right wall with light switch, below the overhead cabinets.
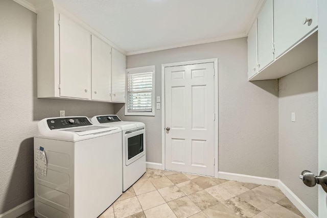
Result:
<instances>
[{"instance_id":1,"label":"textured right wall with light switch, below the overhead cabinets","mask_svg":"<svg viewBox=\"0 0 327 218\"><path fill-rule=\"evenodd\" d=\"M317 63L279 80L279 179L318 214L318 187L298 179L305 169L318 174Z\"/></svg>"}]
</instances>

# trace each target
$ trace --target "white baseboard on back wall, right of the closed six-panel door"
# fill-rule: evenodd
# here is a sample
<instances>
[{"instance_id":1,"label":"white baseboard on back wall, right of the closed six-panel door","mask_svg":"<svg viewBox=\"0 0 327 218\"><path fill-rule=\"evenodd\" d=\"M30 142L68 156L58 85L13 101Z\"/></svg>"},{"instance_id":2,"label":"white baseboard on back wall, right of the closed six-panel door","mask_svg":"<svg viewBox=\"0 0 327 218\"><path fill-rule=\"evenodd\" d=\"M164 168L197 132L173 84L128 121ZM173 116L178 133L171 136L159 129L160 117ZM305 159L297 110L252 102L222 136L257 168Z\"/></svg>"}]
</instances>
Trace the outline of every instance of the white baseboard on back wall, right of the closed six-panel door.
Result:
<instances>
[{"instance_id":1,"label":"white baseboard on back wall, right of the closed six-panel door","mask_svg":"<svg viewBox=\"0 0 327 218\"><path fill-rule=\"evenodd\" d=\"M269 185L274 187L278 187L278 183L279 183L278 179L271 179L271 178L265 178L259 176L249 176L244 174L225 173L225 172L218 172L218 178L235 180L239 182L253 183L258 185Z\"/></svg>"}]
</instances>

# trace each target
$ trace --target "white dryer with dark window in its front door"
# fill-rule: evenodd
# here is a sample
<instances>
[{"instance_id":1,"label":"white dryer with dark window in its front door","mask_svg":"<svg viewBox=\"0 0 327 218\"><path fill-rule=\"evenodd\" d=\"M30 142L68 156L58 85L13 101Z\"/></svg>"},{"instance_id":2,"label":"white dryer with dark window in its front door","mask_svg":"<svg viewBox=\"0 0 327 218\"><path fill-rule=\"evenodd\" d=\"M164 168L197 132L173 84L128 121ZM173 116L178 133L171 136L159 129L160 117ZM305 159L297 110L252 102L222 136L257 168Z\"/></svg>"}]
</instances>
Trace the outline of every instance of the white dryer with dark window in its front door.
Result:
<instances>
[{"instance_id":1,"label":"white dryer with dark window in its front door","mask_svg":"<svg viewBox=\"0 0 327 218\"><path fill-rule=\"evenodd\" d=\"M124 122L117 115L99 115L91 118L95 125L119 127L123 131L123 191L126 191L146 172L145 125Z\"/></svg>"}]
</instances>

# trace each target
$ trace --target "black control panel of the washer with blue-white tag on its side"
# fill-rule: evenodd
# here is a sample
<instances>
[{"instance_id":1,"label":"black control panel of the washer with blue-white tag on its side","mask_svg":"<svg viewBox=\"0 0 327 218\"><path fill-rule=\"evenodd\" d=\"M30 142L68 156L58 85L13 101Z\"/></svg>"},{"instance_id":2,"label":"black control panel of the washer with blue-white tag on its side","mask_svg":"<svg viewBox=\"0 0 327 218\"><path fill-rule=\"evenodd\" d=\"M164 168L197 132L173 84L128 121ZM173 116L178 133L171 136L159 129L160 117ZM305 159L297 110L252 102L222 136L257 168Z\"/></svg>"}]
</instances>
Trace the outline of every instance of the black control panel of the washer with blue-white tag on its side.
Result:
<instances>
[{"instance_id":1,"label":"black control panel of the washer with blue-white tag on its side","mask_svg":"<svg viewBox=\"0 0 327 218\"><path fill-rule=\"evenodd\" d=\"M62 117L46 120L51 130L92 125L86 117Z\"/></svg>"}]
</instances>

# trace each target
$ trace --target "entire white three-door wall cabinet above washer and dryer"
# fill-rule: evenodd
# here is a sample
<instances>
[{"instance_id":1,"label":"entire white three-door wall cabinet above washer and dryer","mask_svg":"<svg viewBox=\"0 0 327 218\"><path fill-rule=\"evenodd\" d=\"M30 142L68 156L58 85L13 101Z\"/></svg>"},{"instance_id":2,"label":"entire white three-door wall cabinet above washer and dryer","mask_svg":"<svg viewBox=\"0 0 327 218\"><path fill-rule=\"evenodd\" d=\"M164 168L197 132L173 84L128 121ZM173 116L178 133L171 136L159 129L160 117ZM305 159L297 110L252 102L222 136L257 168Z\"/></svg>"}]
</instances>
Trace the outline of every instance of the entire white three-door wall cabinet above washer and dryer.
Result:
<instances>
[{"instance_id":1,"label":"entire white three-door wall cabinet above washer and dryer","mask_svg":"<svg viewBox=\"0 0 327 218\"><path fill-rule=\"evenodd\" d=\"M125 103L126 56L56 8L37 13L38 98Z\"/></svg>"}]
</instances>

